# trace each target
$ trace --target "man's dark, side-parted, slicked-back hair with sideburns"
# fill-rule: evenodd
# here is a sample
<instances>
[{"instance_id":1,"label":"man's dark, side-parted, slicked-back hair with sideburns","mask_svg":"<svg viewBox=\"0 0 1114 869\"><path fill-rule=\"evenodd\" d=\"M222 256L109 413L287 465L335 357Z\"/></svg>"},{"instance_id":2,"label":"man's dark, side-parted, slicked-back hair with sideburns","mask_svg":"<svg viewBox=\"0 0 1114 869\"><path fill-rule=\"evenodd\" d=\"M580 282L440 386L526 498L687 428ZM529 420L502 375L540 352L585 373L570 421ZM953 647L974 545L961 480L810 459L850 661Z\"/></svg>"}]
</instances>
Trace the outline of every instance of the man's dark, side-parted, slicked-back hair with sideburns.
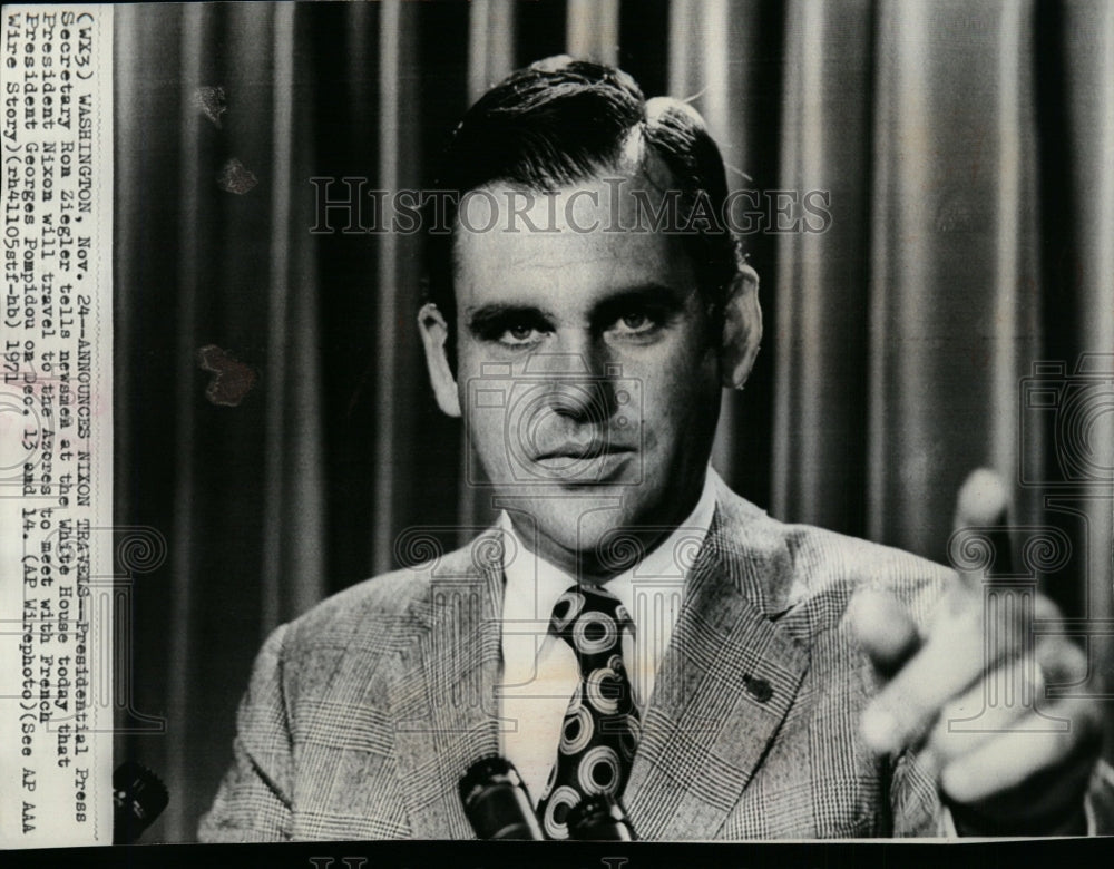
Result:
<instances>
[{"instance_id":1,"label":"man's dark, side-parted, slicked-back hair with sideburns","mask_svg":"<svg viewBox=\"0 0 1114 869\"><path fill-rule=\"evenodd\" d=\"M681 207L691 209L697 197L706 197L714 214L722 214L727 196L723 158L700 114L667 97L647 102L623 70L565 55L512 72L465 114L434 186L460 195L495 182L539 193L570 186L617 168L636 127L647 153L673 176ZM428 227L442 227L428 235L427 294L449 323L450 341L456 321L452 235L443 227L455 226L456 204L447 199L439 221L426 219ZM730 230L709 222L682 237L712 321L719 322L742 263L739 242ZM455 362L452 344L449 360Z\"/></svg>"}]
</instances>

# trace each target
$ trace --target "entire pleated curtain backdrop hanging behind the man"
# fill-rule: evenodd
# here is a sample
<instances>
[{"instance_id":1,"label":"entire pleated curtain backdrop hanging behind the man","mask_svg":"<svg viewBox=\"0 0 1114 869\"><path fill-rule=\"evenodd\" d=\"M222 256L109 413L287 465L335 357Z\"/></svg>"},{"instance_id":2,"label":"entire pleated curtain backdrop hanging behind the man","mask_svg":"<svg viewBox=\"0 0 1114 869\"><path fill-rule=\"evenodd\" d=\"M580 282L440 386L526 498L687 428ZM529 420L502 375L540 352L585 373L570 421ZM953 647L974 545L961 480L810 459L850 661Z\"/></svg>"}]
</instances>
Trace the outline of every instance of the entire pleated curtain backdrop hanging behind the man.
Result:
<instances>
[{"instance_id":1,"label":"entire pleated curtain backdrop hanging behind the man","mask_svg":"<svg viewBox=\"0 0 1114 869\"><path fill-rule=\"evenodd\" d=\"M1110 3L130 6L116 39L117 516L168 539L117 751L169 784L153 840L193 839L267 632L398 567L407 529L490 520L426 379L420 236L311 230L381 227L472 99L561 50L691 100L766 223L729 482L944 560L960 482L997 469L1017 523L1071 533L1040 579L1108 674Z\"/></svg>"}]
</instances>

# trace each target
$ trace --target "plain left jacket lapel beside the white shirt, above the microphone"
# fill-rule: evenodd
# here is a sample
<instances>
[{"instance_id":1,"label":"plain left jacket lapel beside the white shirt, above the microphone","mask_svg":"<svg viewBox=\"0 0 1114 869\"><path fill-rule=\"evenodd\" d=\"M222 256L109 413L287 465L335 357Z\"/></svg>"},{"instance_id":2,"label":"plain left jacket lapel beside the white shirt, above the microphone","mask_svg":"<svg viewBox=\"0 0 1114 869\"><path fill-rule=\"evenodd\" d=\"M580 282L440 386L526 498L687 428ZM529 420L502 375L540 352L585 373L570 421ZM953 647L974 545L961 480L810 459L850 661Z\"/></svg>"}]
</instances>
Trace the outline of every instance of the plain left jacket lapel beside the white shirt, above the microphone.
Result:
<instances>
[{"instance_id":1,"label":"plain left jacket lapel beside the white shirt, above the microphone","mask_svg":"<svg viewBox=\"0 0 1114 869\"><path fill-rule=\"evenodd\" d=\"M458 782L473 761L499 752L501 551L498 534L488 533L446 556L400 625L408 643L388 702L416 838L473 836Z\"/></svg>"}]
</instances>

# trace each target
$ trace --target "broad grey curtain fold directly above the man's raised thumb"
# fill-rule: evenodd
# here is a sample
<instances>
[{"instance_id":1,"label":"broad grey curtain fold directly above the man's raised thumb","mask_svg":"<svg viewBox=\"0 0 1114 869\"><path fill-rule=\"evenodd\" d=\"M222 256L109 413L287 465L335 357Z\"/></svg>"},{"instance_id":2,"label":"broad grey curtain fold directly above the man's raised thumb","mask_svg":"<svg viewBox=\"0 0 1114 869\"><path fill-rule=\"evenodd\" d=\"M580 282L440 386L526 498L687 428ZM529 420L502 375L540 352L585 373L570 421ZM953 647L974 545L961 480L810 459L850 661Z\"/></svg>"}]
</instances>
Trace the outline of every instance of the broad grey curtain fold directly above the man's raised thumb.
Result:
<instances>
[{"instance_id":1,"label":"broad grey curtain fold directly above the man's raised thumb","mask_svg":"<svg viewBox=\"0 0 1114 869\"><path fill-rule=\"evenodd\" d=\"M1017 322L1037 277L1030 20L1015 2L880 8L867 530L913 551L945 551L969 470L1014 476L1010 384L1039 340Z\"/></svg>"}]
</instances>

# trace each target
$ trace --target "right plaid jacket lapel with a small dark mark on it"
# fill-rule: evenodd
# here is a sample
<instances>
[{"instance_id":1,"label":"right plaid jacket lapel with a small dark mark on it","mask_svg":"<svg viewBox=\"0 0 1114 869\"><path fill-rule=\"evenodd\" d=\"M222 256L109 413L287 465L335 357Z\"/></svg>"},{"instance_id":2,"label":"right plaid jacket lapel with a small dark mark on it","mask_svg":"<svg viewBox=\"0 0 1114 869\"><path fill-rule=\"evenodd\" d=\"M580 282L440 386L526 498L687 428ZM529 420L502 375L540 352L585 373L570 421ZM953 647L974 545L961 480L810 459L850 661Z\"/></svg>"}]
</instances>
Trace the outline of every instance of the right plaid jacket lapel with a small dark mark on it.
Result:
<instances>
[{"instance_id":1,"label":"right plaid jacket lapel with a small dark mark on it","mask_svg":"<svg viewBox=\"0 0 1114 869\"><path fill-rule=\"evenodd\" d=\"M800 687L809 653L773 621L792 573L771 528L721 484L624 794L642 838L714 837Z\"/></svg>"}]
</instances>

